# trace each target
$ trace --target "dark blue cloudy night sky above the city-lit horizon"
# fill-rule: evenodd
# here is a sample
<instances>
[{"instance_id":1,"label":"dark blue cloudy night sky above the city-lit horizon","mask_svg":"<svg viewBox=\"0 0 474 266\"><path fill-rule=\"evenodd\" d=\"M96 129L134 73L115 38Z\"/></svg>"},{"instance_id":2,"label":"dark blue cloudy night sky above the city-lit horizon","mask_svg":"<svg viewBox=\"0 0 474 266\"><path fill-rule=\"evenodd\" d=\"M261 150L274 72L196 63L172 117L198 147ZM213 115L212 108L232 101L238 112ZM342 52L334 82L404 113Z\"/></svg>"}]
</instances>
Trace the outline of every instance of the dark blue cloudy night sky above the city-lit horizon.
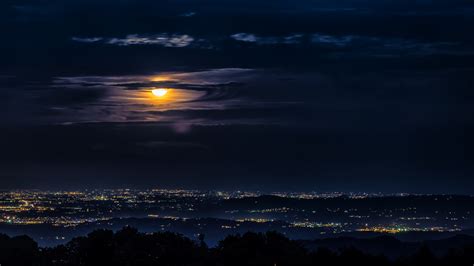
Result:
<instances>
[{"instance_id":1,"label":"dark blue cloudy night sky above the city-lit horizon","mask_svg":"<svg viewBox=\"0 0 474 266\"><path fill-rule=\"evenodd\" d=\"M2 0L0 33L0 188L474 193L472 1Z\"/></svg>"}]
</instances>

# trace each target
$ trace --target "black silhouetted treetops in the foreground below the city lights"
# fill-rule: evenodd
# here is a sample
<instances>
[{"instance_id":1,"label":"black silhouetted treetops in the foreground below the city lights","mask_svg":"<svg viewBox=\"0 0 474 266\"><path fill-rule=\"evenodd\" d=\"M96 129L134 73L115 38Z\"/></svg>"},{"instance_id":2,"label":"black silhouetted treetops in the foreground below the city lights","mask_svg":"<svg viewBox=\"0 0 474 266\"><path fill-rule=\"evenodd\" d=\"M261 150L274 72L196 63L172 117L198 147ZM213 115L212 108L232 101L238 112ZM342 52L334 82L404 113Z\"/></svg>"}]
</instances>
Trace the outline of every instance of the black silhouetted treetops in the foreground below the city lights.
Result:
<instances>
[{"instance_id":1,"label":"black silhouetted treetops in the foreground below the city lights","mask_svg":"<svg viewBox=\"0 0 474 266\"><path fill-rule=\"evenodd\" d=\"M65 245L39 248L27 236L0 235L0 265L469 265L474 247L434 256L427 247L414 255L389 260L383 255L365 254L355 248L310 251L277 232L231 235L209 248L204 236L199 241L170 232L139 233L126 227L120 231L96 230Z\"/></svg>"}]
</instances>

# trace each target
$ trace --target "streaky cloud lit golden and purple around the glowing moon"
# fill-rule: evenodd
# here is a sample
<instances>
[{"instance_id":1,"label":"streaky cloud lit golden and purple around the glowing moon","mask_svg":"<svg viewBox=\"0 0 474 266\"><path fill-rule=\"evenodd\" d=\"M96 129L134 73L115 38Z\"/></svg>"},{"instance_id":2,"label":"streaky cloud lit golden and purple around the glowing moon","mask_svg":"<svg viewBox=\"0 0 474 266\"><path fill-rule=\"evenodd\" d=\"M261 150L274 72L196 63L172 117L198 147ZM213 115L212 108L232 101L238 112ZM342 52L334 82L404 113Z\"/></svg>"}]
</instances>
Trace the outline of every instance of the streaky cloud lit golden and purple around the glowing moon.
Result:
<instances>
[{"instance_id":1,"label":"streaky cloud lit golden and purple around the glowing moon","mask_svg":"<svg viewBox=\"0 0 474 266\"><path fill-rule=\"evenodd\" d=\"M222 68L151 75L57 77L49 86L64 93L48 98L48 107L68 107L60 112L64 116L56 116L55 121L62 119L69 124L181 121L176 130L185 131L185 125L190 123L224 120L202 112L198 114L205 115L191 115L198 110L212 113L253 106L255 103L250 99L243 100L239 92L256 74L253 69ZM169 88L169 96L163 99L151 97L150 90L154 87ZM265 106L259 104L259 108ZM242 121L235 119L232 122Z\"/></svg>"}]
</instances>

